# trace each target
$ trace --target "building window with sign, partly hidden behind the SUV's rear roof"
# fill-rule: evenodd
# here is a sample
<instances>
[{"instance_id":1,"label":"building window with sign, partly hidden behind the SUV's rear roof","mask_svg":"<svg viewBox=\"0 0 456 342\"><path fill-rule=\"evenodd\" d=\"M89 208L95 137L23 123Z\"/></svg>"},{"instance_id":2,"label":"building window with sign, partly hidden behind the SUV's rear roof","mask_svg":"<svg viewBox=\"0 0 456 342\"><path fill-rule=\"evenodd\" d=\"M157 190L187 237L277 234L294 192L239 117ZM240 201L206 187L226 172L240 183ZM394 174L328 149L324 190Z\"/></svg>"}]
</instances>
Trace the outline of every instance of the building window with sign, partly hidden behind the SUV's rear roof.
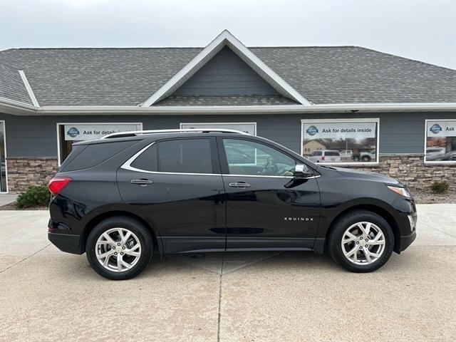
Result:
<instances>
[{"instance_id":1,"label":"building window with sign, partly hidden behind the SUV's rear roof","mask_svg":"<svg viewBox=\"0 0 456 342\"><path fill-rule=\"evenodd\" d=\"M132 130L142 130L142 123L57 123L58 165L68 157L75 142Z\"/></svg>"}]
</instances>

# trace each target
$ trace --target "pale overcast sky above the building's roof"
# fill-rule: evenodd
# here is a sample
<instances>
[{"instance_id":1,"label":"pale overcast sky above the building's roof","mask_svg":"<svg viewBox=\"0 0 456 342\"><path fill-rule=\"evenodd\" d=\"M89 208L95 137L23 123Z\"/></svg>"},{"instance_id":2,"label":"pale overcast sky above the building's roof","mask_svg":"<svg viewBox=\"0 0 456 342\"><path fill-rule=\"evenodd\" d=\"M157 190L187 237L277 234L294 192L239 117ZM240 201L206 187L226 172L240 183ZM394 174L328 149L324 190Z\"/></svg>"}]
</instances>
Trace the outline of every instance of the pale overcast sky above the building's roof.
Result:
<instances>
[{"instance_id":1,"label":"pale overcast sky above the building's roof","mask_svg":"<svg viewBox=\"0 0 456 342\"><path fill-rule=\"evenodd\" d=\"M0 49L356 45L456 68L456 0L0 0Z\"/></svg>"}]
</instances>

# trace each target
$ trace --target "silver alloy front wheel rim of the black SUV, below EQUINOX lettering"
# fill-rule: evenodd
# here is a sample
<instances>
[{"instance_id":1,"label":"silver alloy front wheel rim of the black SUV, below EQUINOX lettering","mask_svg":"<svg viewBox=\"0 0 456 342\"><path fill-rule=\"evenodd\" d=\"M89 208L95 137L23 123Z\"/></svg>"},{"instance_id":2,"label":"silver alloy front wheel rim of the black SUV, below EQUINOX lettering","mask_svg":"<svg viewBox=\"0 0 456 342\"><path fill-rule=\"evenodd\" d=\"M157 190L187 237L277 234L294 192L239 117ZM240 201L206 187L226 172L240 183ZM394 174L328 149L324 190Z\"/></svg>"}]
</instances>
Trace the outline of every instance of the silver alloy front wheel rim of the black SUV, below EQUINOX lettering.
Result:
<instances>
[{"instance_id":1,"label":"silver alloy front wheel rim of the black SUV, below EQUINOX lettering","mask_svg":"<svg viewBox=\"0 0 456 342\"><path fill-rule=\"evenodd\" d=\"M353 264L373 264L385 251L385 235L372 222L358 222L343 233L341 247L343 255Z\"/></svg>"}]
</instances>

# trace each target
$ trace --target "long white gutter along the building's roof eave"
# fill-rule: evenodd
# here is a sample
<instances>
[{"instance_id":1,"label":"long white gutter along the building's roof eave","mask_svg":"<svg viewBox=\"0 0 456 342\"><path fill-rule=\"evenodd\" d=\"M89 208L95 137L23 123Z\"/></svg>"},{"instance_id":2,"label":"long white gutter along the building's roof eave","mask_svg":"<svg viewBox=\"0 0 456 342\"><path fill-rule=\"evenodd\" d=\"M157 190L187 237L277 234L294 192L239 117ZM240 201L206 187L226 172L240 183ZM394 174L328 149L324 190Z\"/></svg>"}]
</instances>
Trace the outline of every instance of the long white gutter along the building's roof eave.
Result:
<instances>
[{"instance_id":1,"label":"long white gutter along the building's roof eave","mask_svg":"<svg viewBox=\"0 0 456 342\"><path fill-rule=\"evenodd\" d=\"M369 113L406 111L455 111L456 103L340 103L323 105L214 105L214 106L33 106L0 98L0 110L13 115L195 115L195 114L291 114Z\"/></svg>"}]
</instances>

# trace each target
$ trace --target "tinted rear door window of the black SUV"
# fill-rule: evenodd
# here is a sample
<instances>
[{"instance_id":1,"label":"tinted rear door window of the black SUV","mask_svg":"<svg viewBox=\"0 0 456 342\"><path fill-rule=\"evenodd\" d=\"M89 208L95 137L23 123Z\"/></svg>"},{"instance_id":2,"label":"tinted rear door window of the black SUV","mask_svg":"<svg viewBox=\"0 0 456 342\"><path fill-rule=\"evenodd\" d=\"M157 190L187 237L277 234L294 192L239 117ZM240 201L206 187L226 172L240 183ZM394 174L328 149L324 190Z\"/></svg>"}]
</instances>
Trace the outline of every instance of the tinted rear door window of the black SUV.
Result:
<instances>
[{"instance_id":1,"label":"tinted rear door window of the black SUV","mask_svg":"<svg viewBox=\"0 0 456 342\"><path fill-rule=\"evenodd\" d=\"M160 172L212 173L209 139L178 139L158 143Z\"/></svg>"}]
</instances>

